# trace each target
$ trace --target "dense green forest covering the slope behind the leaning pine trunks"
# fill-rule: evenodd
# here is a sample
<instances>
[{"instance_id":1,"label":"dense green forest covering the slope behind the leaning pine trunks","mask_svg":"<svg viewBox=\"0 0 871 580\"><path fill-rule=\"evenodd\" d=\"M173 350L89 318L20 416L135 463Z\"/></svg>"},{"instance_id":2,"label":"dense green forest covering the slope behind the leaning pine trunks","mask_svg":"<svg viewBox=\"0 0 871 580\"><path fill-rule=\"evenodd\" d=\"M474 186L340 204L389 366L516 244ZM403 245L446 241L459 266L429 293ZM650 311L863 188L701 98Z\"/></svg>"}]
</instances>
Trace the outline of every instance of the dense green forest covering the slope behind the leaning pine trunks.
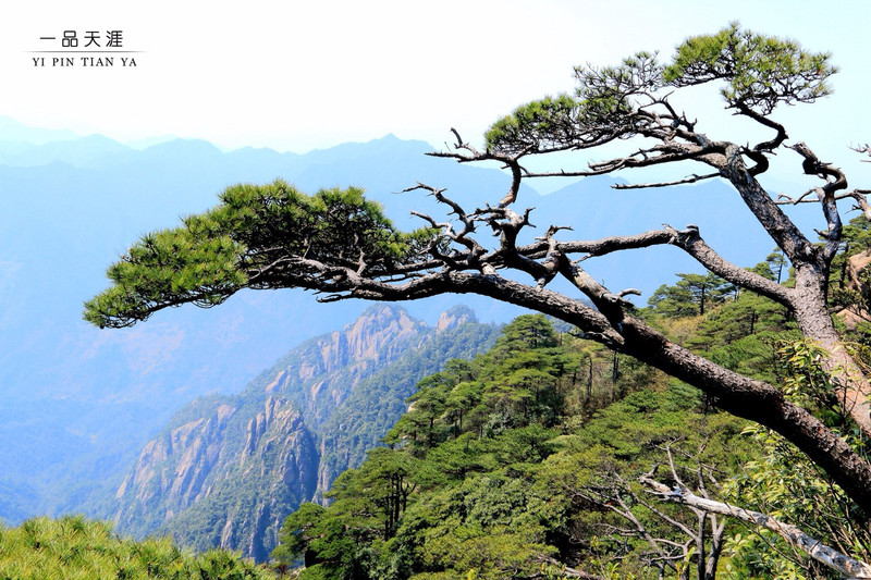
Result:
<instances>
[{"instance_id":1,"label":"dense green forest covering the slope behind the leaning pine trunks","mask_svg":"<svg viewBox=\"0 0 871 580\"><path fill-rule=\"evenodd\" d=\"M830 280L836 320L863 360L869 293L848 270L868 239L857 218ZM778 252L752 270L793 283ZM715 362L781 385L864 455L832 396L825 354L783 306L679 274L638 313ZM642 481L871 556L866 516L783 437L541 314L422 381L409 405L387 446L335 481L328 507L304 504L287 518L280 567L304 565L302 579L839 577L769 529L665 502Z\"/></svg>"}]
</instances>

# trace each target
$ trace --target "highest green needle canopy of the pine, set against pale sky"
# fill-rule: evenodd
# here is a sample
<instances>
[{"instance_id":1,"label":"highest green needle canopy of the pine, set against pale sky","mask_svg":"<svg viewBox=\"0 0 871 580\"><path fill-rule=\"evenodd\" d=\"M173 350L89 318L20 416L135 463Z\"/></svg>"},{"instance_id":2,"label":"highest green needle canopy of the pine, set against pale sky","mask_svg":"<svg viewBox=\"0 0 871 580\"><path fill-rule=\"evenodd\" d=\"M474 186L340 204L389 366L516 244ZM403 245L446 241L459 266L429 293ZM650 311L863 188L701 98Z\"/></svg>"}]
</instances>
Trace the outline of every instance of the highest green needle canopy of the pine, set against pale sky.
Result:
<instances>
[{"instance_id":1,"label":"highest green needle canopy of the pine, set against pale sky","mask_svg":"<svg viewBox=\"0 0 871 580\"><path fill-rule=\"evenodd\" d=\"M638 52L616 66L575 69L575 96L545 97L496 121L484 138L488 150L510 155L584 149L635 135L650 136L659 121L673 128L695 123L668 104L663 89L714 81L727 109L759 120L780 103L813 102L831 92L837 72L827 52L803 50L794 40L743 30L732 23L716 34L687 38L668 63Z\"/></svg>"}]
</instances>

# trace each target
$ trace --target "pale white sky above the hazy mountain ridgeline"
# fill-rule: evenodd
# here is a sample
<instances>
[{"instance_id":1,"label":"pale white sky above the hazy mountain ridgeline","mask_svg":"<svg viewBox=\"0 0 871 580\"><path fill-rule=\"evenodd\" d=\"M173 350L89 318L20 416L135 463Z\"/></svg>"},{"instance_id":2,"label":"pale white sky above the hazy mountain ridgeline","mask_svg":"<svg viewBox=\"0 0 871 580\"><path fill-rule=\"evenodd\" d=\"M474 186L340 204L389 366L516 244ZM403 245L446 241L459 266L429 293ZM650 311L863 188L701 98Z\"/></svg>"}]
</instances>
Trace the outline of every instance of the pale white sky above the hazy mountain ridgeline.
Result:
<instances>
[{"instance_id":1,"label":"pale white sky above the hazy mountain ridgeline","mask_svg":"<svg viewBox=\"0 0 871 580\"><path fill-rule=\"evenodd\" d=\"M871 140L862 0L825 10L808 0L34 0L5 7L0 23L0 115L122 141L174 135L295 152L388 133L438 147L451 127L480 143L517 104L571 91L576 64L637 50L667 58L687 36L735 20L831 51L842 70L833 97L777 113L794 140L836 159ZM83 66L76 54L73 66L51 66L59 54L38 51L60 50L64 30L82 44L87 32L100 44L120 30L131 51L121 57L136 65L116 55ZM706 133L745 138L715 94L699 101L688 112Z\"/></svg>"}]
</instances>

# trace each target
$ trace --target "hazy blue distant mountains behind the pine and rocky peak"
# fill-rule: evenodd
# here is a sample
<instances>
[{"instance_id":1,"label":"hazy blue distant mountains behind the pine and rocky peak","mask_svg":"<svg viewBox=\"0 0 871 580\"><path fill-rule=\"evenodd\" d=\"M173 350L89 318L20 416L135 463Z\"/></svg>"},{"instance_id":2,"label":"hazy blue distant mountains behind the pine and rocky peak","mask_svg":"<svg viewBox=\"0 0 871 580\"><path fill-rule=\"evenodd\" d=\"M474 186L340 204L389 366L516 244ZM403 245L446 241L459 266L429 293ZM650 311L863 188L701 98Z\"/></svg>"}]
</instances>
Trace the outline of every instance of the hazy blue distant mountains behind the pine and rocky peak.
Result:
<instances>
[{"instance_id":1,"label":"hazy blue distant mountains behind the pine and rocky peak","mask_svg":"<svg viewBox=\"0 0 871 580\"><path fill-rule=\"evenodd\" d=\"M363 186L404 229L421 225L412 209L439 220L445 214L421 192L396 194L417 182L445 187L467 210L504 194L504 172L427 157L431 149L388 135L305 155L223 152L191 139L139 150L0 119L0 518L14 525L34 513L88 513L180 407L209 393L236 392L291 345L341 328L370 306L319 305L303 292L243 292L220 308L170 309L133 329L87 325L82 304L106 286L107 266L143 233L208 209L230 184L277 177L309 193ZM525 186L518 207L537 208L527 242L550 223L573 225L573 233L561 235L592 238L665 222L699 224L706 239L741 266L772 248L719 182L615 192L604 178L585 178L548 196ZM805 210L818 211L797 211ZM481 242L496 243L486 235ZM699 270L672 247L596 258L584 267L613 289L640 288L640 304L673 282L674 272ZM488 321L523 312L481 297L463 301ZM407 308L433 324L456 304L456 296L443 296Z\"/></svg>"}]
</instances>

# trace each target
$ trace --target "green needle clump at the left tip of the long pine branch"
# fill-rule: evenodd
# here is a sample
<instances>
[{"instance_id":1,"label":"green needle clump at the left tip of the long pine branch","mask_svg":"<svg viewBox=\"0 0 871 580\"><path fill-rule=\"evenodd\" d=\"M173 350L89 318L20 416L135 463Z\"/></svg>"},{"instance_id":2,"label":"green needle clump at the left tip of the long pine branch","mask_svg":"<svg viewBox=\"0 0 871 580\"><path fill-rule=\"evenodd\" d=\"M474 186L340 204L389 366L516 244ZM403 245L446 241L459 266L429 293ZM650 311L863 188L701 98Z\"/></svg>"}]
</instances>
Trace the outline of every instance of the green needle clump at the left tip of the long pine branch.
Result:
<instances>
[{"instance_id":1,"label":"green needle clump at the left tip of the long pine branch","mask_svg":"<svg viewBox=\"0 0 871 580\"><path fill-rule=\"evenodd\" d=\"M363 255L378 273L431 237L427 229L400 232L356 187L308 196L278 180L228 187L220 200L180 227L143 236L109 268L112 286L85 304L85 319L123 328L169 306L217 306L244 287L311 287L318 272L308 258L348 266ZM291 269L286 256L299 257Z\"/></svg>"}]
</instances>

